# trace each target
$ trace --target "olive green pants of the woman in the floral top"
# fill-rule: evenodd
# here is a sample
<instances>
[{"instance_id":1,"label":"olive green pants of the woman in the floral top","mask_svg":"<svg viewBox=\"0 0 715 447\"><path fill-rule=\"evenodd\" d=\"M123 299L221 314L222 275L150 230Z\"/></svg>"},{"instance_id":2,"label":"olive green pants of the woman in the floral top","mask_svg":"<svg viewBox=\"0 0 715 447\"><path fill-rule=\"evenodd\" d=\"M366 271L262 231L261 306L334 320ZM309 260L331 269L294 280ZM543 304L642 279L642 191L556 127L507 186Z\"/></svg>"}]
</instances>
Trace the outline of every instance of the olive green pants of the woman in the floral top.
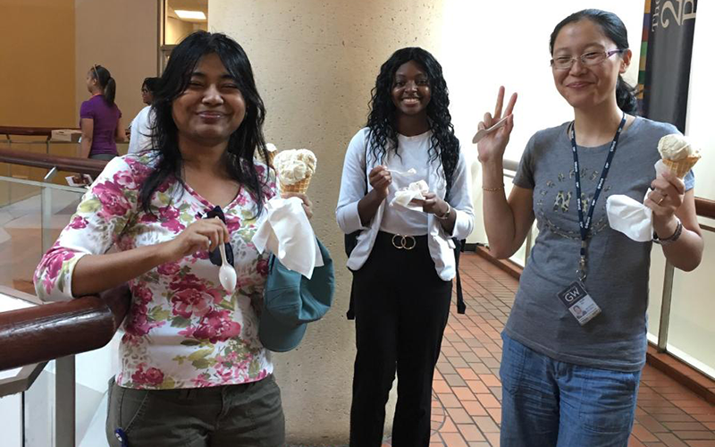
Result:
<instances>
[{"instance_id":1,"label":"olive green pants of the woman in the floral top","mask_svg":"<svg viewBox=\"0 0 715 447\"><path fill-rule=\"evenodd\" d=\"M122 447L283 447L285 419L273 375L251 384L135 390L109 381L106 436Z\"/></svg>"}]
</instances>

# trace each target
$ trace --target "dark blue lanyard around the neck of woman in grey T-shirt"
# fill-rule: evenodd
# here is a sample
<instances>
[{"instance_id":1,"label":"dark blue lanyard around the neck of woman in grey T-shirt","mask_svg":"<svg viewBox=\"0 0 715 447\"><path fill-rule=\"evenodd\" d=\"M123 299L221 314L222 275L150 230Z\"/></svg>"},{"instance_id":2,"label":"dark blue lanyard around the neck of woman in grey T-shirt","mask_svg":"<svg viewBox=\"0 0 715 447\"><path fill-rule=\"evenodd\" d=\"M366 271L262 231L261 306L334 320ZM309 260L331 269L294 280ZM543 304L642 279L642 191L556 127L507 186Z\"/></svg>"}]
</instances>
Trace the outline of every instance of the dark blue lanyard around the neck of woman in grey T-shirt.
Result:
<instances>
[{"instance_id":1,"label":"dark blue lanyard around the neck of woman in grey T-shirt","mask_svg":"<svg viewBox=\"0 0 715 447\"><path fill-rule=\"evenodd\" d=\"M576 204L578 208L578 226L581 231L581 259L578 262L578 270L576 270L576 277L579 281L584 281L586 279L586 240L588 239L588 232L591 230L591 222L593 219L593 210L596 209L596 201L599 196L601 196L601 190L603 190L603 184L606 182L606 177L609 174L610 163L613 161L613 156L616 154L616 148L618 147L618 137L620 137L620 132L623 131L623 126L626 125L626 114L620 120L618 125L618 131L613 137L613 141L610 143L609 156L606 157L606 164L603 165L603 170L601 171L601 178L596 185L596 191L593 193L593 198L591 199L591 206L588 208L588 215L584 219L584 205L581 200L581 172L578 164L578 152L576 151L576 125L571 122L571 150L574 153L574 171L576 174Z\"/></svg>"}]
</instances>

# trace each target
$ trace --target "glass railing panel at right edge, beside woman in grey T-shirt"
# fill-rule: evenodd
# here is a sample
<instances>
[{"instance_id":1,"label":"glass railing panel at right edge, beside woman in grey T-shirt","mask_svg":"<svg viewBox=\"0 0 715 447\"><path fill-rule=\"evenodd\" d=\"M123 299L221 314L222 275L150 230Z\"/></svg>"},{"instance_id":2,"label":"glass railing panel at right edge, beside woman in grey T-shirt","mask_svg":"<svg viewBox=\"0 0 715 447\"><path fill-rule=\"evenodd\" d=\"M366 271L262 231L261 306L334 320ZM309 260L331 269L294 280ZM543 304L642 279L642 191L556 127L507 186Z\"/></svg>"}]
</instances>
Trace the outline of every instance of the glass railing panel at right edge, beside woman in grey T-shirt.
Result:
<instances>
[{"instance_id":1,"label":"glass railing panel at right edge, beside woman in grey T-shirt","mask_svg":"<svg viewBox=\"0 0 715 447\"><path fill-rule=\"evenodd\" d=\"M667 349L715 378L715 232L702 232L705 251L693 272L676 269Z\"/></svg>"}]
</instances>

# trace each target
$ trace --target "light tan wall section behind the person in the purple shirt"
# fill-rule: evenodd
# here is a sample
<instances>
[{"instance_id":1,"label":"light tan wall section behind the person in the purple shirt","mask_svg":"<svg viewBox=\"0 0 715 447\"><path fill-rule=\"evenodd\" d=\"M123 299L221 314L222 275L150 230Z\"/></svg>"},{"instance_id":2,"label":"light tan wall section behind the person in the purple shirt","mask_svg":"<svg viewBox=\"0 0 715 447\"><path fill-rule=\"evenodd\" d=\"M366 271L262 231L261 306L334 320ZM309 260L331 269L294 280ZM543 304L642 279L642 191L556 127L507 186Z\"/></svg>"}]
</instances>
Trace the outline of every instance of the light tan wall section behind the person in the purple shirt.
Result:
<instances>
[{"instance_id":1,"label":"light tan wall section behind the person in the purple shirt","mask_svg":"<svg viewBox=\"0 0 715 447\"><path fill-rule=\"evenodd\" d=\"M156 0L75 0L75 115L89 94L85 84L95 63L105 66L117 83L116 103L124 126L144 106L141 82L156 76L158 2Z\"/></svg>"}]
</instances>

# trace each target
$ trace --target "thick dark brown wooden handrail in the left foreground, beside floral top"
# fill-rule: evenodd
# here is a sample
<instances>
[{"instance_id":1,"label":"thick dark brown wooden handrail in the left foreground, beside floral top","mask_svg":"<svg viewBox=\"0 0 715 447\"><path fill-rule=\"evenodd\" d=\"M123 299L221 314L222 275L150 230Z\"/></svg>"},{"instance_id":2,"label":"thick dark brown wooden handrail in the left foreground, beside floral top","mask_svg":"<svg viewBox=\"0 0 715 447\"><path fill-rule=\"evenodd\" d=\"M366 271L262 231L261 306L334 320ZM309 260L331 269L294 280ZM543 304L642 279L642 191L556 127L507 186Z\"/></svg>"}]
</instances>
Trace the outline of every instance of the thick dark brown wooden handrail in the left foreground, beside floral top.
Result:
<instances>
[{"instance_id":1,"label":"thick dark brown wooden handrail in the left foreground, beside floral top","mask_svg":"<svg viewBox=\"0 0 715 447\"><path fill-rule=\"evenodd\" d=\"M114 337L130 308L129 286L99 296L0 313L0 371L98 350Z\"/></svg>"}]
</instances>

